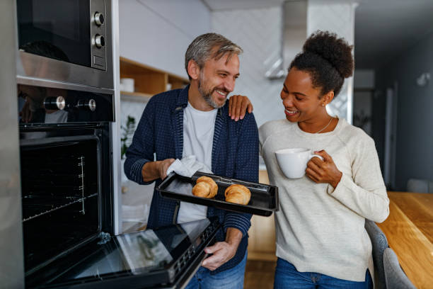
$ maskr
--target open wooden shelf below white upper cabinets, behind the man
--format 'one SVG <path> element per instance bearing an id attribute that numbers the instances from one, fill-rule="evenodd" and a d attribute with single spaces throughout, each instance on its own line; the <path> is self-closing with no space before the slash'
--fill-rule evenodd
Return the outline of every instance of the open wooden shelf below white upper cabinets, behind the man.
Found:
<path id="1" fill-rule="evenodd" d="M 151 96 L 170 89 L 182 89 L 190 81 L 178 75 L 120 57 L 120 78 L 134 79 L 134 91 L 120 91 L 123 100 L 148 101 Z"/>

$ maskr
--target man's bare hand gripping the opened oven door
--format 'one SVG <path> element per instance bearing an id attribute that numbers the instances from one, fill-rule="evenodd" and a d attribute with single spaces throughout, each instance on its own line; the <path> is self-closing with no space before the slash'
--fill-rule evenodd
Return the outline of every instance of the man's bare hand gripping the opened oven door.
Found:
<path id="1" fill-rule="evenodd" d="M 229 228 L 226 232 L 226 242 L 217 242 L 214 246 L 204 248 L 207 254 L 212 256 L 204 259 L 202 266 L 214 271 L 222 264 L 226 263 L 235 256 L 238 251 L 239 243 L 241 243 L 242 232 L 236 228 Z"/>

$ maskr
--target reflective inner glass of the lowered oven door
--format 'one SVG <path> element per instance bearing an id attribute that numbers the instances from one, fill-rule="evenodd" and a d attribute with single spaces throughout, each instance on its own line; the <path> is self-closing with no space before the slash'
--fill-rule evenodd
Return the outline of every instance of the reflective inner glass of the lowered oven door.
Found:
<path id="1" fill-rule="evenodd" d="M 79 256 L 77 253 L 79 263 L 75 266 L 68 263 L 69 270 L 53 283 L 92 282 L 120 276 L 149 276 L 141 279 L 142 287 L 170 283 L 185 270 L 184 267 L 178 270 L 179 263 L 187 266 L 185 253 L 190 252 L 192 246 L 196 253 L 204 249 L 205 241 L 201 236 L 210 225 L 211 222 L 204 219 L 114 236 L 103 245 L 88 248 L 86 252 L 91 254 Z M 193 259 L 194 253 L 188 256 Z"/>

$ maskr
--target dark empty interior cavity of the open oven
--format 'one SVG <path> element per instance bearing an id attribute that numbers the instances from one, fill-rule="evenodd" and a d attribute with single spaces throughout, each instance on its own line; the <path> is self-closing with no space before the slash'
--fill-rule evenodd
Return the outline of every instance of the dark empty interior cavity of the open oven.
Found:
<path id="1" fill-rule="evenodd" d="M 25 271 L 100 231 L 98 139 L 64 139 L 21 146 Z"/>

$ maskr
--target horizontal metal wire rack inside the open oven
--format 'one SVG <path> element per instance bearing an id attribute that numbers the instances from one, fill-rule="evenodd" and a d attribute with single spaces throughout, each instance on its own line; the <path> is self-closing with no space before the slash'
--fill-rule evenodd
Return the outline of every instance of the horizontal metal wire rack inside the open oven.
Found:
<path id="1" fill-rule="evenodd" d="M 23 203 L 23 208 L 25 208 L 25 211 L 28 210 L 32 210 L 35 212 L 34 215 L 33 214 L 29 214 L 30 217 L 24 217 L 23 216 L 23 222 L 26 222 L 28 220 L 32 220 L 35 217 L 39 217 L 41 215 L 45 215 L 48 214 L 50 212 L 54 212 L 55 210 L 59 210 L 61 208 L 65 208 L 69 205 L 72 205 L 74 203 L 79 203 L 79 202 L 83 202 L 83 208 L 84 208 L 84 200 L 86 200 L 87 198 L 92 198 L 94 196 L 98 196 L 98 193 L 93 193 L 90 196 L 86 196 L 86 197 L 82 197 L 82 198 L 77 198 L 77 197 L 66 197 L 66 198 L 57 198 L 57 201 L 59 201 L 59 203 L 57 204 L 53 204 L 55 202 L 53 202 L 53 198 L 50 198 L 50 203 Z M 63 199 L 65 202 L 61 202 L 60 199 Z M 33 206 L 33 208 L 31 208 Z M 37 208 L 39 207 L 39 208 Z M 81 212 L 84 213 L 84 210 L 82 210 Z"/>

